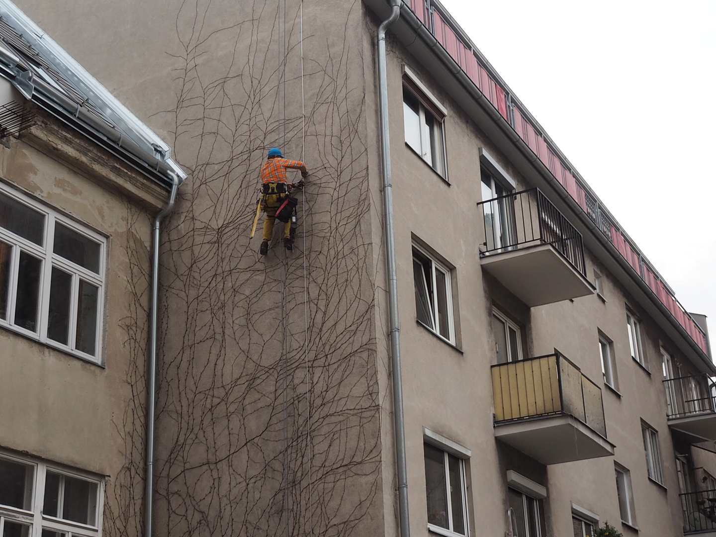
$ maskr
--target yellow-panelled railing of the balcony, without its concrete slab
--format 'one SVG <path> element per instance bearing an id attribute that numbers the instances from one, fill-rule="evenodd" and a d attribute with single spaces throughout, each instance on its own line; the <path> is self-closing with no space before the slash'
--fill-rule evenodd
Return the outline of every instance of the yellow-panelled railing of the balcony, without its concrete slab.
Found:
<path id="1" fill-rule="evenodd" d="M 601 390 L 559 352 L 492 367 L 495 423 L 571 415 L 606 438 Z"/>

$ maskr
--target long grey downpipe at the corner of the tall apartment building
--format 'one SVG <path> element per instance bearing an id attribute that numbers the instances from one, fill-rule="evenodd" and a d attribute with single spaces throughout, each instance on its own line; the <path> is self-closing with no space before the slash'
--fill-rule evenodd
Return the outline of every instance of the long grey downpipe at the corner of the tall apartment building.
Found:
<path id="1" fill-rule="evenodd" d="M 407 463 L 405 456 L 405 420 L 403 416 L 402 377 L 400 372 L 400 322 L 398 321 L 397 269 L 395 266 L 395 233 L 393 229 L 393 185 L 390 174 L 390 132 L 388 122 L 387 60 L 385 32 L 400 16 L 400 0 L 391 0 L 392 13 L 378 27 L 378 100 L 380 107 L 380 141 L 383 165 L 383 205 L 385 218 L 385 258 L 388 270 L 388 303 L 390 310 L 390 349 L 393 374 L 393 411 L 395 421 L 395 459 L 398 477 L 398 512 L 400 536 L 410 537 L 407 503 Z"/>

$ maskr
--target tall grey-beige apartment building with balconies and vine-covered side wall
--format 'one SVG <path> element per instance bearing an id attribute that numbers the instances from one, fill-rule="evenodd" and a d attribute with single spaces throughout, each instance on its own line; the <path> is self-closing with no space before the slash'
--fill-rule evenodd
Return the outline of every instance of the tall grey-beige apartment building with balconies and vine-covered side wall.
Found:
<path id="1" fill-rule="evenodd" d="M 19 4 L 190 170 L 164 241 L 155 534 L 397 535 L 390 2 Z M 412 535 L 716 535 L 705 318 L 439 2 L 402 3 L 387 51 Z M 311 176 L 297 251 L 262 259 L 273 145 Z M 105 531 L 136 535 L 122 501 Z"/>

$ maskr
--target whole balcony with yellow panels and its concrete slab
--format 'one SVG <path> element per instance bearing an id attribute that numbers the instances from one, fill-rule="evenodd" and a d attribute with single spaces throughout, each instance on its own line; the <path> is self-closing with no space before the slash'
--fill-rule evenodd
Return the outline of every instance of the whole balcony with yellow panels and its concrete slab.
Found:
<path id="1" fill-rule="evenodd" d="M 559 352 L 492 367 L 495 438 L 549 465 L 614 455 L 601 390 Z"/>

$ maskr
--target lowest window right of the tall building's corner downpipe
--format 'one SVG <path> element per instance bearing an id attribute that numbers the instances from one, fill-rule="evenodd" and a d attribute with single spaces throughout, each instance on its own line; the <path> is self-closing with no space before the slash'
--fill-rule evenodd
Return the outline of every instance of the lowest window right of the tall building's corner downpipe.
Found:
<path id="1" fill-rule="evenodd" d="M 468 535 L 465 461 L 428 443 L 423 448 L 428 528 L 445 535 Z"/>

